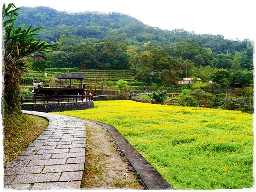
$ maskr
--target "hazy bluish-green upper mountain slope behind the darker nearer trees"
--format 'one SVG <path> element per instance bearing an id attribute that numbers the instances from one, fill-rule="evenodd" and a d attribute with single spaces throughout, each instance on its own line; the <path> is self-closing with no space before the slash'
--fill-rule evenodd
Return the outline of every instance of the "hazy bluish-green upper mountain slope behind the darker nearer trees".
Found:
<path id="1" fill-rule="evenodd" d="M 56 42 L 60 36 L 67 38 L 83 38 L 87 45 L 102 40 L 124 42 L 127 46 L 142 46 L 145 42 L 151 42 L 158 46 L 173 46 L 176 42 L 195 40 L 210 48 L 214 53 L 234 53 L 244 51 L 248 39 L 226 40 L 221 35 L 194 34 L 184 29 L 162 30 L 148 26 L 126 14 L 117 12 L 65 12 L 57 11 L 49 7 L 37 6 L 34 8 L 22 7 L 18 13 L 17 26 L 25 24 L 34 28 L 43 26 L 46 28 L 39 36 L 40 40 L 50 43 Z"/>

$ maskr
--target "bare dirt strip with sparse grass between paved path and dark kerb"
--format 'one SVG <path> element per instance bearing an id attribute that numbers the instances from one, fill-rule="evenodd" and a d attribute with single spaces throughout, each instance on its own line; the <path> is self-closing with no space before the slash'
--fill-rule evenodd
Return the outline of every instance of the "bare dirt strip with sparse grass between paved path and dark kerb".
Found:
<path id="1" fill-rule="evenodd" d="M 146 189 L 111 135 L 101 125 L 86 126 L 86 162 L 81 189 Z"/>

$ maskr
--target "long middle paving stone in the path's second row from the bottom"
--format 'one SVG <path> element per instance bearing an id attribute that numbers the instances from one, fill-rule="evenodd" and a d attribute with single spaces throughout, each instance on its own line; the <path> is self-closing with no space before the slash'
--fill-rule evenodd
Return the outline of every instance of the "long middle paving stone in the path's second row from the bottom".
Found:
<path id="1" fill-rule="evenodd" d="M 58 181 L 60 179 L 60 174 L 61 173 L 59 172 L 59 173 L 18 175 L 13 180 L 12 184 Z"/>

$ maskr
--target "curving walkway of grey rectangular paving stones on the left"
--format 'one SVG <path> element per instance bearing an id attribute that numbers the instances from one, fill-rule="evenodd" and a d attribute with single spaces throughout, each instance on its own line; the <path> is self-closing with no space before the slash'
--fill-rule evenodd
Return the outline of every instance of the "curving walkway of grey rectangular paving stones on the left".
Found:
<path id="1" fill-rule="evenodd" d="M 75 117 L 23 111 L 49 120 L 34 143 L 4 168 L 4 189 L 79 189 L 85 163 L 86 128 Z"/>

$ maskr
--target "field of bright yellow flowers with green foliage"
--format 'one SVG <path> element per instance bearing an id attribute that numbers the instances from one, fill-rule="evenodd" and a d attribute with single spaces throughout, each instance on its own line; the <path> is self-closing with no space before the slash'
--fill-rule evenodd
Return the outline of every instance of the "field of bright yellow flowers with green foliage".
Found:
<path id="1" fill-rule="evenodd" d="M 94 107 L 57 113 L 113 125 L 174 189 L 254 185 L 252 114 L 128 100 Z"/>

